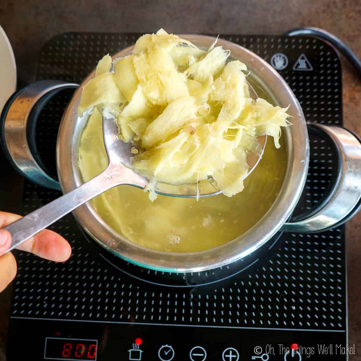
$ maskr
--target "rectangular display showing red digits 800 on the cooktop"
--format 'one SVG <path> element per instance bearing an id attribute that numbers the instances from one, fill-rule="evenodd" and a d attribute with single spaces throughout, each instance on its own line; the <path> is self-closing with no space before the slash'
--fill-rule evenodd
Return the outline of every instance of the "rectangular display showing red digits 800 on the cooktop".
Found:
<path id="1" fill-rule="evenodd" d="M 44 358 L 53 360 L 96 360 L 97 340 L 48 337 Z"/>

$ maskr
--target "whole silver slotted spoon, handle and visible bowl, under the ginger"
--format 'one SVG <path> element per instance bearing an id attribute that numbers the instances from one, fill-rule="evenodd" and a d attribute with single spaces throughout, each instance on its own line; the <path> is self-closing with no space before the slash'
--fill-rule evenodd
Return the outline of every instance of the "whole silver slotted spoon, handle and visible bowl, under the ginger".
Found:
<path id="1" fill-rule="evenodd" d="M 257 99 L 255 90 L 250 84 L 248 84 L 248 86 L 252 99 Z M 135 147 L 134 144 L 125 143 L 119 140 L 117 136 L 118 133 L 119 128 L 116 118 L 107 118 L 103 116 L 103 138 L 106 154 L 108 155 L 108 167 L 103 171 L 103 173 L 82 184 L 80 187 L 75 188 L 73 191 L 66 193 L 47 205 L 27 214 L 25 217 L 10 224 L 9 226 L 4 227 L 4 229 L 8 230 L 12 235 L 11 247 L 6 252 L 11 251 L 25 240 L 31 238 L 36 233 L 70 213 L 73 209 L 109 190 L 110 188 L 121 184 L 128 184 L 130 186 L 144 189 L 144 187 L 149 183 L 148 179 L 128 168 L 131 165 L 131 157 L 141 150 L 138 147 Z M 251 174 L 260 161 L 265 149 L 266 140 L 267 136 L 258 138 L 262 147 L 262 151 L 259 156 L 256 156 L 253 153 L 249 153 L 247 156 L 247 163 L 249 166 L 247 176 Z M 210 178 L 208 181 L 212 182 L 213 179 Z M 196 187 L 194 187 L 194 185 L 174 186 L 167 184 L 165 188 L 156 190 L 156 192 L 167 196 L 188 198 L 197 197 Z M 213 186 L 212 192 L 202 192 L 199 197 L 213 196 L 218 193 L 220 193 L 220 191 Z"/>

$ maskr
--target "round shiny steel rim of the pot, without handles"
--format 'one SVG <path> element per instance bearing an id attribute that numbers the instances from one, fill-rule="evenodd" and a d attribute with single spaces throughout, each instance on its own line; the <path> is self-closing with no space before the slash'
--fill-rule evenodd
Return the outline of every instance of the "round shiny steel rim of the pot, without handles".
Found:
<path id="1" fill-rule="evenodd" d="M 205 35 L 179 35 L 200 48 L 212 45 L 216 38 Z M 218 46 L 231 51 L 231 57 L 244 62 L 257 79 L 262 89 L 273 90 L 273 101 L 287 107 L 293 117 L 293 125 L 283 130 L 288 147 L 288 166 L 282 188 L 268 212 L 247 232 L 230 242 L 205 251 L 191 253 L 170 253 L 149 249 L 119 235 L 96 213 L 88 202 L 73 211 L 83 229 L 100 245 L 115 255 L 145 268 L 166 272 L 197 272 L 214 269 L 235 262 L 261 247 L 291 216 L 306 182 L 309 161 L 309 142 L 306 122 L 301 106 L 284 79 L 255 53 L 218 39 Z M 123 49 L 113 58 L 129 55 L 134 45 Z M 75 91 L 68 104 L 57 137 L 57 173 L 64 193 L 80 186 L 83 182 L 78 169 L 78 143 L 86 119 L 78 118 L 77 109 L 82 86 L 95 75 L 89 74 Z"/>

